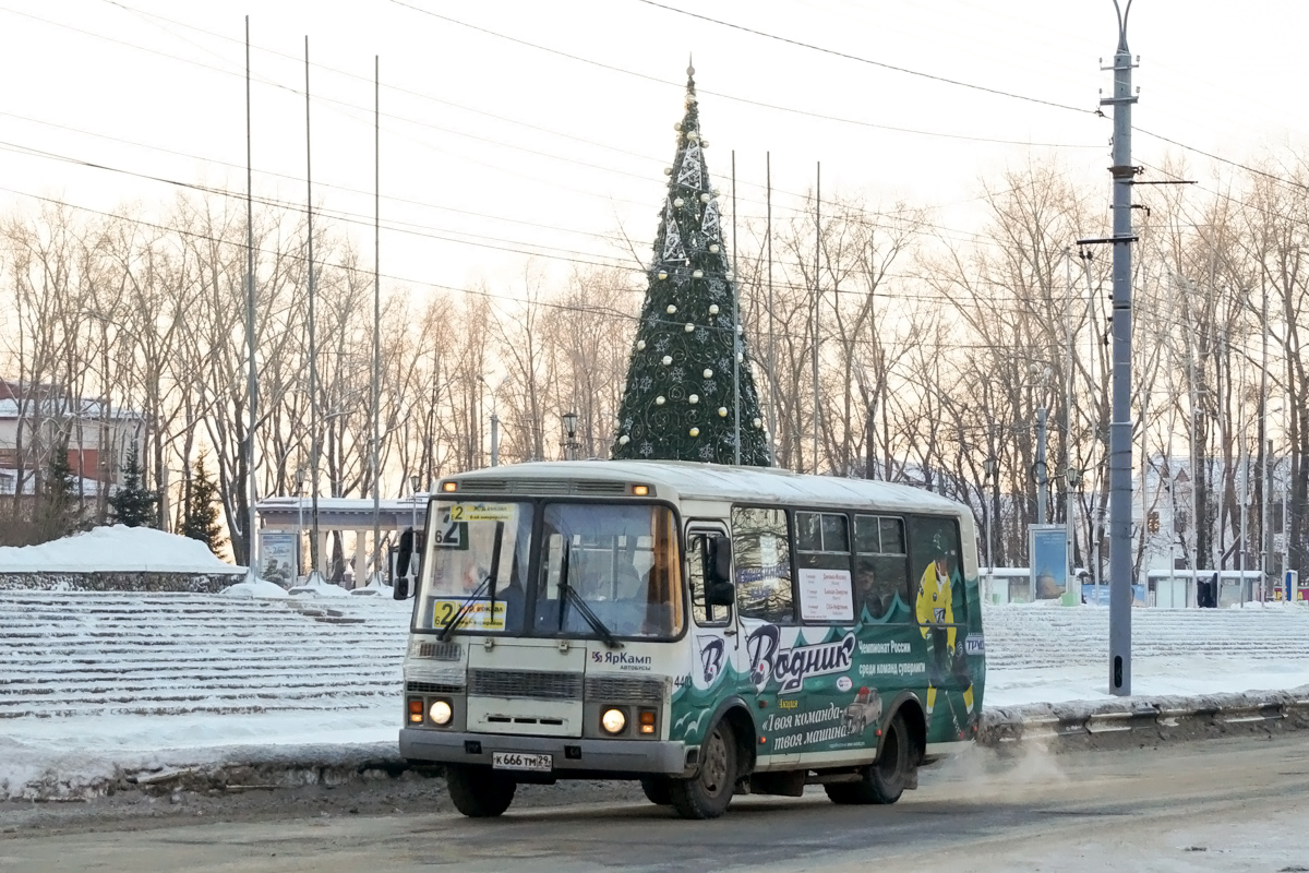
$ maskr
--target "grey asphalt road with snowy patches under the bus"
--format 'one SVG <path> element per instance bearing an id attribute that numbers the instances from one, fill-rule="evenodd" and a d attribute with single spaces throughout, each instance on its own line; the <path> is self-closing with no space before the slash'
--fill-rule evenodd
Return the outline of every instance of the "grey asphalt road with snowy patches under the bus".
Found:
<path id="1" fill-rule="evenodd" d="M 648 804 L 257 822 L 114 822 L 0 838 L 10 870 L 1309 870 L 1309 738 L 1233 739 L 924 772 L 889 808 L 745 797 L 713 822 Z"/>

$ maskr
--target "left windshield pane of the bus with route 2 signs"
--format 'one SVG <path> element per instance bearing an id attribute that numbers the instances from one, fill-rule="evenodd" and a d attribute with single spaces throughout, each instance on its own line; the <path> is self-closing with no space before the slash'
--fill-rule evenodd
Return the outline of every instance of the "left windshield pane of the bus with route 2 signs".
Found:
<path id="1" fill-rule="evenodd" d="M 531 504 L 436 500 L 429 518 L 414 630 L 440 631 L 458 615 L 456 631 L 521 632 Z"/>

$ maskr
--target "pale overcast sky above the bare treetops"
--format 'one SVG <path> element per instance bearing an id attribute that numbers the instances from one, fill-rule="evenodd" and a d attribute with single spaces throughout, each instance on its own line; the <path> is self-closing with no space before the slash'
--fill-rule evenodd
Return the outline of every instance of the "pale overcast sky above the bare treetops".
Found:
<path id="1" fill-rule="evenodd" d="M 243 195 L 249 14 L 255 192 L 302 208 L 308 35 L 315 202 L 357 221 L 369 266 L 381 56 L 384 284 L 511 291 L 524 253 L 556 276 L 572 260 L 631 264 L 619 229 L 648 258 L 690 52 L 709 170 L 726 199 L 736 151 L 742 217 L 763 213 L 766 152 L 778 220 L 821 161 L 825 194 L 935 207 L 958 236 L 977 229 L 980 178 L 1051 153 L 1103 186 L 1107 211 L 1111 126 L 1092 110 L 1110 88 L 1110 0 L 660 3 L 1086 111 L 641 0 L 0 0 L 0 203 L 153 211 L 173 198 L 134 173 Z M 1292 0 L 1138 0 L 1135 124 L 1242 162 L 1301 145 L 1305 33 L 1309 4 Z M 1140 131 L 1134 145 L 1138 164 L 1183 154 Z"/>

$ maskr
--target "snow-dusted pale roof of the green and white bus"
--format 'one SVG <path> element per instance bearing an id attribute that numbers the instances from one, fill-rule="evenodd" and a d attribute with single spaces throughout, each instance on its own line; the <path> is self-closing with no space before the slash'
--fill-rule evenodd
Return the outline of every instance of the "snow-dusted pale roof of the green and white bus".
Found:
<path id="1" fill-rule="evenodd" d="M 691 461 L 538 461 L 471 470 L 445 480 L 471 493 L 559 493 L 558 483 L 632 483 L 654 487 L 657 496 L 681 500 L 784 503 L 831 507 L 874 505 L 880 509 L 967 513 L 963 504 L 941 495 L 878 479 L 816 476 L 778 467 L 734 467 Z M 550 486 L 555 484 L 555 488 Z M 673 492 L 672 495 L 669 492 Z M 601 496 L 602 488 L 573 493 Z M 626 493 L 626 487 L 620 493 Z"/>

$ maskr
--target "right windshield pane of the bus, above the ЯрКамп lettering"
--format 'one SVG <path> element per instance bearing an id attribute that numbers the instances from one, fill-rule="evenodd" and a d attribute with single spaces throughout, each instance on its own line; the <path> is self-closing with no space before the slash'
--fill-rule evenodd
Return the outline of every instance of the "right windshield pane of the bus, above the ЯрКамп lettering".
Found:
<path id="1" fill-rule="evenodd" d="M 605 639 L 682 632 L 672 509 L 558 503 L 547 504 L 543 513 L 534 592 L 537 635 Z"/>

